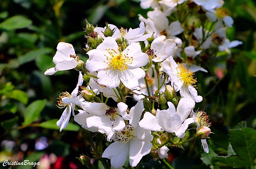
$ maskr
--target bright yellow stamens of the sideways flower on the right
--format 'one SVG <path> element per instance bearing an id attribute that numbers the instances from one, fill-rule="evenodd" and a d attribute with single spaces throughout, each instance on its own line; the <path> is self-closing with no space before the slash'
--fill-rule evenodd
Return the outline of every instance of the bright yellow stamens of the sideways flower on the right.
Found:
<path id="1" fill-rule="evenodd" d="M 176 69 L 177 69 L 178 75 L 180 76 L 180 79 L 183 80 L 183 82 L 186 85 L 191 85 L 193 87 L 196 87 L 195 83 L 197 82 L 197 80 L 194 79 L 193 77 L 194 73 L 191 70 L 184 68 L 184 66 L 179 63 Z"/>

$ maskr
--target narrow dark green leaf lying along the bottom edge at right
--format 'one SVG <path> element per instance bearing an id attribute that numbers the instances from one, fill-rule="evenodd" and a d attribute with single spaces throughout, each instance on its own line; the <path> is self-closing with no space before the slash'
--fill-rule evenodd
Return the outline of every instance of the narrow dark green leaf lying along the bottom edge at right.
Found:
<path id="1" fill-rule="evenodd" d="M 249 164 L 238 156 L 218 156 L 212 158 L 212 163 L 218 166 L 248 167 Z"/>

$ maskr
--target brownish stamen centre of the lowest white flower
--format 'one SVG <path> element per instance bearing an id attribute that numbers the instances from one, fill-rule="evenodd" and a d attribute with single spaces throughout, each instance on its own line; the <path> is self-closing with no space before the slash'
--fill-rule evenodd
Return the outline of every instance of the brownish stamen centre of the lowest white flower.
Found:
<path id="1" fill-rule="evenodd" d="M 126 143 L 131 140 L 132 133 L 134 131 L 134 127 L 131 124 L 126 124 L 125 128 L 121 132 L 115 133 L 116 141 Z"/>

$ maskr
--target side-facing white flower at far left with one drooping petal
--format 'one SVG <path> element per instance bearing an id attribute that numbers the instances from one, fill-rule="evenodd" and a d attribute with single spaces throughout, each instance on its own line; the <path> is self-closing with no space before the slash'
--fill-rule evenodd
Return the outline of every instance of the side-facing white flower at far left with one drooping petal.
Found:
<path id="1" fill-rule="evenodd" d="M 79 57 L 76 55 L 73 45 L 65 42 L 59 42 L 57 45 L 57 52 L 52 59 L 55 67 L 49 68 L 44 72 L 44 74 L 53 75 L 57 71 L 76 68 L 78 61 Z"/>

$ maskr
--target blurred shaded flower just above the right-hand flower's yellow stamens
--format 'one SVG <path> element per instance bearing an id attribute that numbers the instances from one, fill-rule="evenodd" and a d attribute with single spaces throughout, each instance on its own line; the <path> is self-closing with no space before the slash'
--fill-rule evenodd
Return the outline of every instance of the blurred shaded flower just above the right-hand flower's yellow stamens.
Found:
<path id="1" fill-rule="evenodd" d="M 186 62 L 184 63 L 184 67 L 188 68 L 192 72 L 197 72 L 197 71 L 203 71 L 203 72 L 208 72 L 201 66 L 195 65 L 195 57 L 201 54 L 201 51 L 195 51 L 194 46 L 188 46 L 184 48 L 184 52 L 187 56 Z"/>

